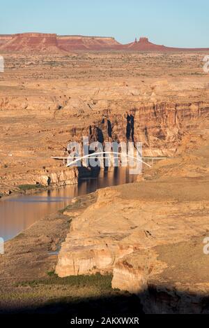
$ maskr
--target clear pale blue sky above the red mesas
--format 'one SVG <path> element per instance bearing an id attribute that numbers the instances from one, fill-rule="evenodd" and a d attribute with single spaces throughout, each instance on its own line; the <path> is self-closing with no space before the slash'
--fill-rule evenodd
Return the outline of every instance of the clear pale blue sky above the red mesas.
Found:
<path id="1" fill-rule="evenodd" d="M 38 31 L 148 36 L 158 44 L 209 47 L 208 0 L 0 0 L 0 34 Z"/>

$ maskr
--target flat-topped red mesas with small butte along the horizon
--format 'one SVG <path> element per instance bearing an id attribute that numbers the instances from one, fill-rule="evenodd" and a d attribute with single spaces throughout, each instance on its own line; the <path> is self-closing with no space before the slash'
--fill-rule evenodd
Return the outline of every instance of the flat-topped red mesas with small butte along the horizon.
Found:
<path id="1" fill-rule="evenodd" d="M 76 50 L 123 50 L 146 52 L 199 51 L 209 48 L 172 48 L 151 43 L 148 38 L 137 38 L 123 45 L 115 38 L 105 36 L 56 36 L 56 34 L 23 33 L 0 35 L 0 50 L 8 52 L 71 52 Z"/>

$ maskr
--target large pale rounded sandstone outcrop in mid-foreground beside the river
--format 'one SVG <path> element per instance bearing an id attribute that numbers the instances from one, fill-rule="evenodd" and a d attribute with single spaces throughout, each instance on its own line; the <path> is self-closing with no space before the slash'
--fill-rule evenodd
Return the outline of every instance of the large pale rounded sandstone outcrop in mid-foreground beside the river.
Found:
<path id="1" fill-rule="evenodd" d="M 181 180 L 176 187 L 185 185 L 185 180 Z M 194 185 L 197 183 L 189 183 L 188 190 Z M 160 183 L 158 180 L 157 183 L 98 191 L 96 203 L 72 220 L 56 267 L 59 276 L 88 274 L 94 269 L 112 271 L 114 268 L 117 274 L 120 260 L 124 259 L 125 263 L 127 255 L 141 254 L 142 250 L 157 245 L 171 245 L 204 234 L 208 229 L 209 208 L 206 190 L 201 190 L 203 203 L 198 197 L 199 200 L 193 201 L 188 208 L 186 200 L 180 201 L 183 192 L 172 188 L 169 181 Z M 132 274 L 134 271 L 130 271 Z"/>

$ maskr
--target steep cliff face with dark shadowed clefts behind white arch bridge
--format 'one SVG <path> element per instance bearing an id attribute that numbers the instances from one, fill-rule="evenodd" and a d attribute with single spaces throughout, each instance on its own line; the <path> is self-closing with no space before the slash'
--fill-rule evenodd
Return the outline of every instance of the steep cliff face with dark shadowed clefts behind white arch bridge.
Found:
<path id="1" fill-rule="evenodd" d="M 102 109 L 102 108 L 101 108 Z M 196 129 L 199 120 L 209 118 L 209 104 L 204 102 L 175 104 L 159 102 L 137 105 L 130 110 L 134 115 L 134 134 L 130 141 L 143 143 L 143 155 L 172 157 L 176 154 L 183 136 Z M 118 110 L 105 110 L 100 120 L 91 127 L 73 129 L 72 138 L 79 141 L 89 135 L 94 141 L 127 141 L 127 114 Z M 91 132 L 89 132 L 91 131 Z M 99 131 L 99 133 L 98 133 Z M 81 139 L 80 139 L 81 140 Z"/>

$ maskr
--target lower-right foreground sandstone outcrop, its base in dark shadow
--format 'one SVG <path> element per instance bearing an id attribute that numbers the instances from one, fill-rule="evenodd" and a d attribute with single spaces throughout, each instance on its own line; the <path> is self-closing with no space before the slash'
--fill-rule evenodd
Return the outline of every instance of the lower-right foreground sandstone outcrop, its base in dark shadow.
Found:
<path id="1" fill-rule="evenodd" d="M 208 261 L 203 236 L 159 245 L 118 262 L 112 287 L 137 294 L 145 313 L 208 313 Z"/>

